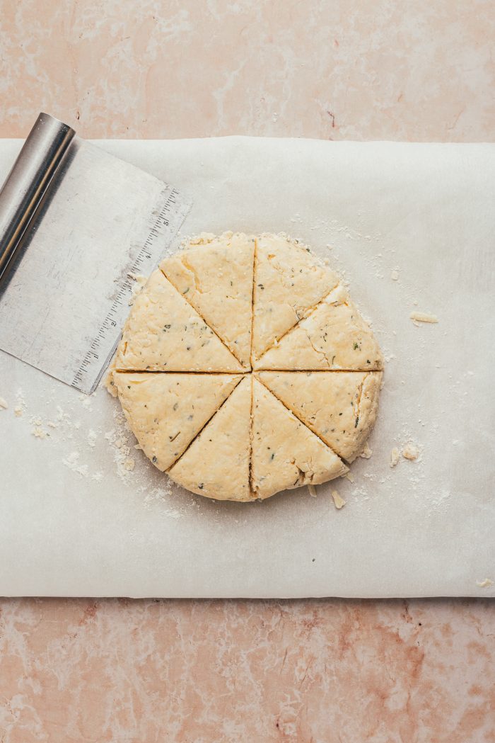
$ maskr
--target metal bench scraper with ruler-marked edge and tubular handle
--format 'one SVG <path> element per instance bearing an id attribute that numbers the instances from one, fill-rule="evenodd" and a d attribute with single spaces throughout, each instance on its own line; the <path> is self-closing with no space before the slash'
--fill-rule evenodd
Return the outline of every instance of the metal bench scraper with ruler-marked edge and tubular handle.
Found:
<path id="1" fill-rule="evenodd" d="M 90 394 L 191 203 L 39 114 L 0 189 L 0 348 Z"/>

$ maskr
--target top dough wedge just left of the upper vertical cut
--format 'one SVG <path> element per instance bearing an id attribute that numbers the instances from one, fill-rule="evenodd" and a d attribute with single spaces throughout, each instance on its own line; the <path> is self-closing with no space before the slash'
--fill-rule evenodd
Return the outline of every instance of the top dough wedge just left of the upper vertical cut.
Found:
<path id="1" fill-rule="evenodd" d="M 255 239 L 225 233 L 198 240 L 165 259 L 160 268 L 249 369 Z"/>

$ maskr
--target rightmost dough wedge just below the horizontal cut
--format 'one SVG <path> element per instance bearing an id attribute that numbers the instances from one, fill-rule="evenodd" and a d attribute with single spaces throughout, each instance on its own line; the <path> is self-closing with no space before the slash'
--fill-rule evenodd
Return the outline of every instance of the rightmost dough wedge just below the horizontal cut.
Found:
<path id="1" fill-rule="evenodd" d="M 339 457 L 353 461 L 376 420 L 381 371 L 260 371 L 260 380 Z"/>

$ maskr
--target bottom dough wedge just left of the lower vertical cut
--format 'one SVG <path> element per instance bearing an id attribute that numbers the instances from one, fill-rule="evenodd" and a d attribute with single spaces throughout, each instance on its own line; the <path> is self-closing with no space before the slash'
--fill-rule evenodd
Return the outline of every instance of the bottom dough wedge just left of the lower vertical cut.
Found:
<path id="1" fill-rule="evenodd" d="M 251 383 L 243 378 L 168 474 L 220 501 L 249 501 Z"/>

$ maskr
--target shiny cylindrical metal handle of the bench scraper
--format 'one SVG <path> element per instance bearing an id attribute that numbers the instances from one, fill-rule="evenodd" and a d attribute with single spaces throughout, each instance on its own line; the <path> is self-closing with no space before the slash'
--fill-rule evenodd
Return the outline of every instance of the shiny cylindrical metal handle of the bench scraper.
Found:
<path id="1" fill-rule="evenodd" d="M 76 132 L 39 114 L 0 189 L 0 282 Z"/>

